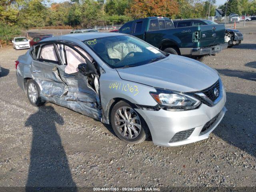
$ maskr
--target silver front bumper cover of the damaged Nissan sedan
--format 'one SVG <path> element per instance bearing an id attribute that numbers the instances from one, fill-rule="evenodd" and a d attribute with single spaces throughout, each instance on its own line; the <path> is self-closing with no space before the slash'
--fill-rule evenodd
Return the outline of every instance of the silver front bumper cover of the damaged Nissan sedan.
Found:
<path id="1" fill-rule="evenodd" d="M 138 109 L 140 115 L 146 121 L 154 144 L 159 146 L 179 146 L 204 140 L 218 126 L 226 113 L 226 93 L 223 90 L 221 100 L 210 107 L 201 104 L 198 109 L 187 111 L 158 111 Z M 210 120 L 214 119 L 214 122 Z M 204 131 L 205 125 L 211 122 Z M 184 140 L 173 142 L 172 138 L 179 132 L 191 130 Z"/>

